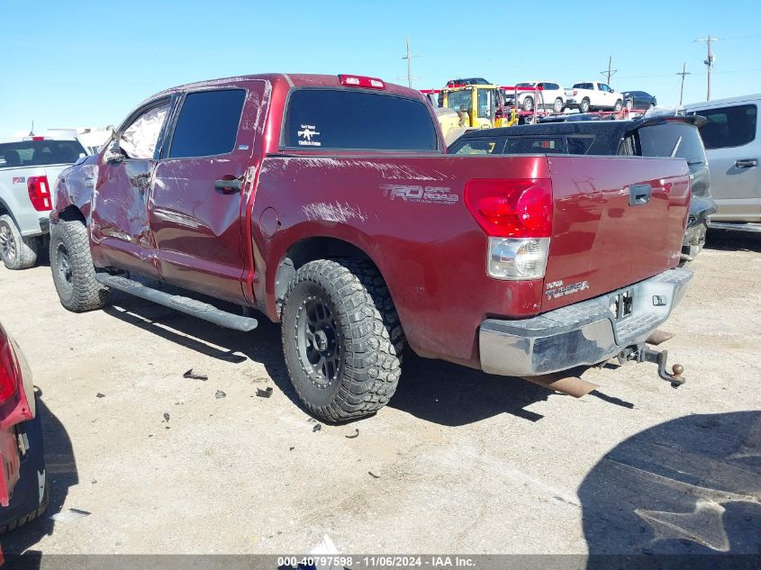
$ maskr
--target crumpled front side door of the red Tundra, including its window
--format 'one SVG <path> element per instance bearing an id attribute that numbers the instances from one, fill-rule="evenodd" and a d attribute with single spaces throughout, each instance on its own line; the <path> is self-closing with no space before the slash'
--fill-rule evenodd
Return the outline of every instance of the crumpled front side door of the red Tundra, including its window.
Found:
<path id="1" fill-rule="evenodd" d="M 150 234 L 148 200 L 159 135 L 169 98 L 138 109 L 98 156 L 94 181 L 92 251 L 97 267 L 119 267 L 159 277 Z"/>

